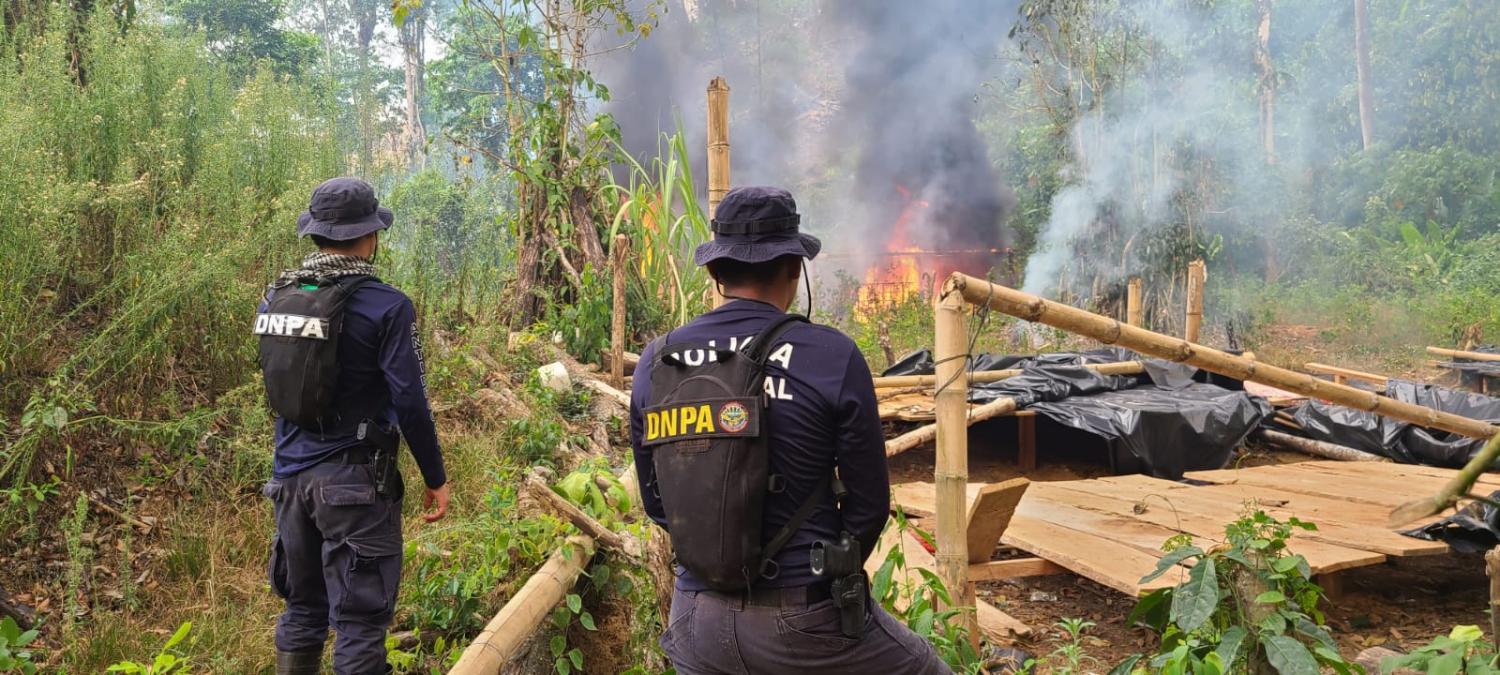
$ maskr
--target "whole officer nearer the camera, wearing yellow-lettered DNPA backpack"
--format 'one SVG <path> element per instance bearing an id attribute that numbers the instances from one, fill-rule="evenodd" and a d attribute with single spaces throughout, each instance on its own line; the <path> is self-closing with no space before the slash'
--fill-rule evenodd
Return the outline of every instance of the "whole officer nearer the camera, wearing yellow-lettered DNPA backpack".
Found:
<path id="1" fill-rule="evenodd" d="M 630 432 L 646 513 L 681 570 L 676 672 L 946 674 L 870 598 L 890 508 L 874 384 L 854 340 L 788 315 L 801 262 L 786 190 L 730 190 L 699 246 L 729 302 L 640 354 Z"/>

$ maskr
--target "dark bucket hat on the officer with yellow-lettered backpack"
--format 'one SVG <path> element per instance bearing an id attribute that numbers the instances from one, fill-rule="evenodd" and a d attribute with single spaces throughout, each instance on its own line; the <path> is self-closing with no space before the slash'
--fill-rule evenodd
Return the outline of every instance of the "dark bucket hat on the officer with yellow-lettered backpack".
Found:
<path id="1" fill-rule="evenodd" d="M 706 266 L 720 258 L 766 262 L 783 255 L 818 256 L 824 243 L 796 230 L 792 194 L 780 188 L 735 188 L 714 212 L 714 238 L 698 246 L 693 262 Z"/>

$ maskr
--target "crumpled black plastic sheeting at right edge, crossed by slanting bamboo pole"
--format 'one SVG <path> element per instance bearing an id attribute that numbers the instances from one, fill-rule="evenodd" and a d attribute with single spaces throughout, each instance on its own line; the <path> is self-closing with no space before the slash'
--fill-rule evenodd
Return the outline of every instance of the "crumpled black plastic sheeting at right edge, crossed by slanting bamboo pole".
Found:
<path id="1" fill-rule="evenodd" d="M 1473 392 L 1390 380 L 1386 384 L 1386 396 L 1455 416 L 1500 423 L 1500 399 Z M 1300 424 L 1298 430 L 1300 435 L 1404 464 L 1458 468 L 1485 444 L 1480 438 L 1428 429 L 1322 400 L 1306 400 L 1298 405 L 1293 410 L 1293 417 Z"/>

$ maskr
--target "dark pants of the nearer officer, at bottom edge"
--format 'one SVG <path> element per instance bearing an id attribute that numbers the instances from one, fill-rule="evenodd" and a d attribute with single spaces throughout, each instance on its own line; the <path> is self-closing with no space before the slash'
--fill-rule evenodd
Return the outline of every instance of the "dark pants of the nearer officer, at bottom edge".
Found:
<path id="1" fill-rule="evenodd" d="M 712 591 L 676 591 L 662 650 L 681 675 L 951 675 L 933 646 L 870 603 L 861 638 L 838 628 L 832 600 L 780 608 Z"/>

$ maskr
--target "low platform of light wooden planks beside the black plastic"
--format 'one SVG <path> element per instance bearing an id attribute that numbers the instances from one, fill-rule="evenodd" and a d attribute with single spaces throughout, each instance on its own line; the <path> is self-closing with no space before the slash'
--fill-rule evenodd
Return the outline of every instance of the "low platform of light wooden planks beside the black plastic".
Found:
<path id="1" fill-rule="evenodd" d="M 1128 596 L 1172 586 L 1186 568 L 1150 584 L 1161 544 L 1190 534 L 1198 546 L 1224 540 L 1224 525 L 1251 508 L 1278 519 L 1296 516 L 1318 526 L 1298 532 L 1292 550 L 1306 556 L 1314 574 L 1374 566 L 1392 556 L 1440 555 L 1440 542 L 1406 537 L 1386 526 L 1396 504 L 1432 494 L 1455 471 L 1384 462 L 1302 462 L 1245 470 L 1190 472 L 1215 484 L 1191 486 L 1148 476 L 1032 483 L 1000 542 Z M 970 498 L 982 488 L 970 486 Z M 1500 476 L 1480 478 L 1500 489 Z M 894 489 L 915 516 L 932 513 L 930 483 Z M 1412 525 L 1412 526 L 1416 526 Z"/>

